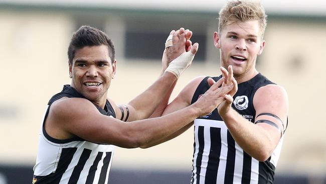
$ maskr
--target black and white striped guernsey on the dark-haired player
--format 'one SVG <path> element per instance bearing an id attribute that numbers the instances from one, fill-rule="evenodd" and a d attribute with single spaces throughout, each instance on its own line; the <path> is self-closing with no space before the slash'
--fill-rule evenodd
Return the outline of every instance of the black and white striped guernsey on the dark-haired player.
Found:
<path id="1" fill-rule="evenodd" d="M 108 183 L 114 145 L 88 142 L 80 137 L 59 140 L 45 131 L 44 122 L 50 106 L 62 97 L 85 98 L 70 85 L 64 85 L 61 93 L 49 101 L 40 130 L 33 184 Z M 96 105 L 95 107 L 101 114 L 115 118 L 114 110 L 108 101 L 104 109 Z"/>

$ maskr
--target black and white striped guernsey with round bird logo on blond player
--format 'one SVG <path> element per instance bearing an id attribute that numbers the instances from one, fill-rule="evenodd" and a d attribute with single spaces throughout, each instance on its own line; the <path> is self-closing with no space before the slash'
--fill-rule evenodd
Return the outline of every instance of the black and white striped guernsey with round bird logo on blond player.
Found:
<path id="1" fill-rule="evenodd" d="M 207 78 L 197 87 L 192 103 L 209 89 Z M 220 79 L 213 77 L 215 81 Z M 253 97 L 261 86 L 273 84 L 262 74 L 238 84 L 232 108 L 250 122 L 256 115 Z M 194 154 L 191 183 L 273 183 L 283 137 L 268 160 L 260 162 L 235 142 L 217 109 L 194 121 Z"/>

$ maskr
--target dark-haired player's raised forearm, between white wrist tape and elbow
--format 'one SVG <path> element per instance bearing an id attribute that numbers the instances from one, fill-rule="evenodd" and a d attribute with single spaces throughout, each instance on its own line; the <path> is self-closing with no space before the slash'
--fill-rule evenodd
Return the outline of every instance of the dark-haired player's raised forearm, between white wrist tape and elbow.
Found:
<path id="1" fill-rule="evenodd" d="M 168 104 L 176 80 L 177 78 L 174 74 L 164 72 L 143 93 L 130 101 L 128 105 L 132 106 L 135 110 L 134 114 L 136 116 L 134 120 L 148 118 L 156 109 L 157 112 L 155 114 L 163 112 Z M 158 106 L 159 108 L 157 108 Z"/>

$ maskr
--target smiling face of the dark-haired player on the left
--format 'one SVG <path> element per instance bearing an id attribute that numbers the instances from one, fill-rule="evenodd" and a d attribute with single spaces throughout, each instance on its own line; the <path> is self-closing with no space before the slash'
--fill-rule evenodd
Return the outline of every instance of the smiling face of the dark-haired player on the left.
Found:
<path id="1" fill-rule="evenodd" d="M 111 62 L 108 52 L 106 45 L 86 46 L 76 51 L 69 64 L 71 86 L 100 107 L 105 105 L 116 69 L 116 61 Z"/>

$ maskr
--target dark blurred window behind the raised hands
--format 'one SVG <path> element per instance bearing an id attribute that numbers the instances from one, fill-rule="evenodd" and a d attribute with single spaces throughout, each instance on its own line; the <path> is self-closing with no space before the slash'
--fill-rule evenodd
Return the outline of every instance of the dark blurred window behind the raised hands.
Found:
<path id="1" fill-rule="evenodd" d="M 129 20 L 130 21 L 130 20 Z M 175 26 L 177 25 L 177 26 Z M 147 22 L 145 20 L 135 20 L 127 23 L 125 32 L 124 53 L 127 59 L 151 59 L 160 61 L 164 44 L 168 34 L 172 29 L 179 29 L 178 23 L 170 22 Z M 196 54 L 196 60 L 206 60 L 206 27 L 192 22 L 184 26 L 194 32 L 192 42 L 200 43 L 200 48 Z M 194 28 L 193 28 L 194 27 Z M 196 29 L 197 28 L 197 29 Z M 203 29 L 204 28 L 204 29 Z"/>

